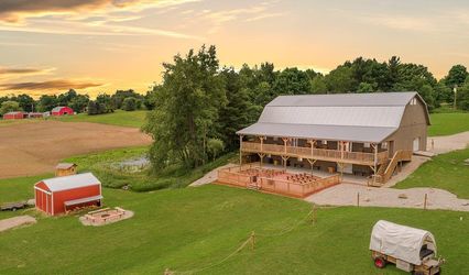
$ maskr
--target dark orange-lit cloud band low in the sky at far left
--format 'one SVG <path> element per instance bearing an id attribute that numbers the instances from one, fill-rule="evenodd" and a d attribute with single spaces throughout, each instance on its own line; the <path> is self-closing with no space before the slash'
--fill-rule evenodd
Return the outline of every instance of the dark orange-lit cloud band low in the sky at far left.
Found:
<path id="1" fill-rule="evenodd" d="M 91 81 L 77 81 L 72 79 L 55 79 L 39 82 L 14 82 L 14 84 L 0 84 L 1 90 L 67 90 L 67 89 L 86 89 L 99 87 L 103 84 Z"/>

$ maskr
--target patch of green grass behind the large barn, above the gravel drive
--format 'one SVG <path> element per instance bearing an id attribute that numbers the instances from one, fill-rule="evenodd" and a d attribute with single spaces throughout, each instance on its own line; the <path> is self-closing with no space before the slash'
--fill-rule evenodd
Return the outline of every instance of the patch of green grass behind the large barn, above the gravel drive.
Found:
<path id="1" fill-rule="evenodd" d="M 469 112 L 432 113 L 428 135 L 450 135 L 469 131 Z"/>

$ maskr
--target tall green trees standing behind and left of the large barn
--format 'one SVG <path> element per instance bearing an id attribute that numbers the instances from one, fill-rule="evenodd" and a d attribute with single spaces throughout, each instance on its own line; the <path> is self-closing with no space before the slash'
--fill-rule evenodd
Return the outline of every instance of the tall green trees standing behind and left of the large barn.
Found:
<path id="1" fill-rule="evenodd" d="M 236 131 L 253 123 L 263 107 L 281 95 L 417 91 L 432 111 L 455 100 L 469 110 L 469 74 L 455 65 L 436 79 L 424 65 L 358 57 L 329 74 L 296 67 L 275 69 L 272 63 L 239 70 L 221 67 L 215 46 L 177 54 L 163 64 L 162 82 L 146 97 L 153 111 L 143 130 L 153 136 L 153 166 L 162 168 L 182 162 L 196 167 L 220 151 L 239 146 Z"/>

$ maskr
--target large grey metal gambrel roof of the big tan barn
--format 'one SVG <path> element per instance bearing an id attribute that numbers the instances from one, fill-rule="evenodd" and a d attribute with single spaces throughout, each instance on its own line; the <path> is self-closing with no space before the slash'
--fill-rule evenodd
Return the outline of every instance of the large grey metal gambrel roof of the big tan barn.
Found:
<path id="1" fill-rule="evenodd" d="M 417 92 L 280 96 L 238 134 L 382 142 L 401 124 Z"/>

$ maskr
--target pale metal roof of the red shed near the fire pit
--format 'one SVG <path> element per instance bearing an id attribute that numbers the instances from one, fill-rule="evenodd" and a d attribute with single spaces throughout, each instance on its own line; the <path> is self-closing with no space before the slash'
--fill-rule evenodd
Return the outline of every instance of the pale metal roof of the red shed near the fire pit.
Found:
<path id="1" fill-rule="evenodd" d="M 84 173 L 72 176 L 54 177 L 41 180 L 51 191 L 62 191 L 85 186 L 101 185 L 92 173 Z M 40 183 L 41 183 L 40 182 Z"/>

